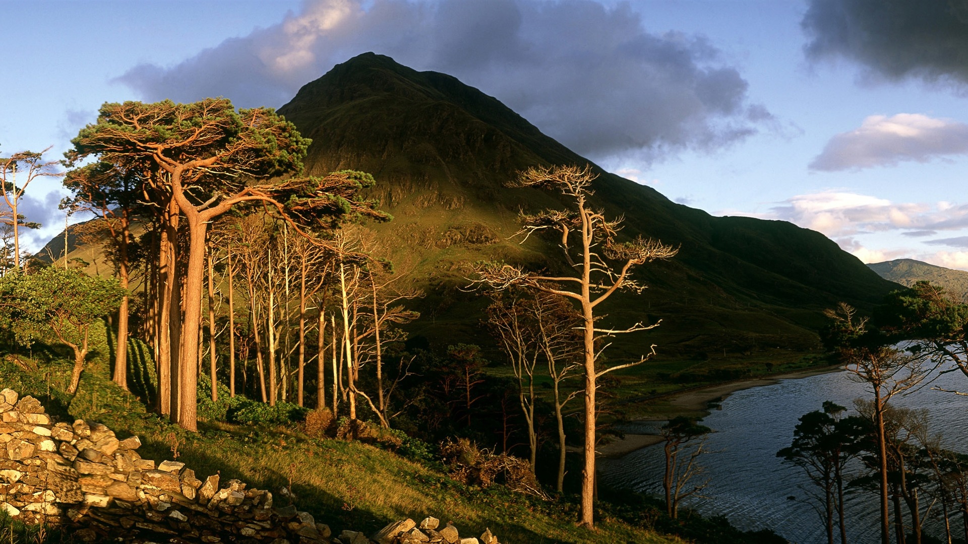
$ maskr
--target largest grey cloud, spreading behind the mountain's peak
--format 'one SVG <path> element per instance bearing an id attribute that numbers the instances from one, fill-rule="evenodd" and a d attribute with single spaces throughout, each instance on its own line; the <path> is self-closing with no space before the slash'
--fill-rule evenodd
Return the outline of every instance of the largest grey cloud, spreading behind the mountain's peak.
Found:
<path id="1" fill-rule="evenodd" d="M 773 122 L 706 38 L 652 34 L 627 5 L 594 2 L 308 2 L 176 66 L 141 65 L 118 79 L 150 101 L 282 106 L 370 50 L 458 76 L 596 158 L 711 151 Z"/>

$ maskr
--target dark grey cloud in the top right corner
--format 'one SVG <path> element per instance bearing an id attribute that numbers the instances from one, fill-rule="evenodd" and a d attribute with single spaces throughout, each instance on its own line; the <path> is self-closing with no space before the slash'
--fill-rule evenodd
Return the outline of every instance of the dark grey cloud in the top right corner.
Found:
<path id="1" fill-rule="evenodd" d="M 801 24 L 810 59 L 845 58 L 888 80 L 968 82 L 965 0 L 811 0 Z"/>

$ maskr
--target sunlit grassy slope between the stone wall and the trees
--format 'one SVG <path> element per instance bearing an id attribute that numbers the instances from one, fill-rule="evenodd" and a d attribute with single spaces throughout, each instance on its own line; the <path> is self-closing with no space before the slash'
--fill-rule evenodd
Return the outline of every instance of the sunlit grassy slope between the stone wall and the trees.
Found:
<path id="1" fill-rule="evenodd" d="M 107 379 L 104 365 L 95 364 L 82 375 L 73 398 L 60 388 L 69 374 L 67 362 L 45 364 L 38 373 L 0 362 L 0 383 L 37 397 L 49 413 L 66 421 L 100 421 L 120 438 L 137 435 L 143 443 L 138 450 L 143 457 L 160 462 L 177 452 L 178 461 L 202 478 L 220 473 L 223 479 L 238 478 L 273 492 L 291 486 L 298 507 L 335 533 L 342 529 L 369 533 L 391 521 L 432 515 L 453 521 L 464 536 L 490 528 L 505 544 L 684 542 L 608 515 L 593 532 L 579 529 L 574 524 L 577 505 L 569 499 L 543 501 L 511 493 L 500 485 L 488 489 L 467 486 L 439 468 L 408 461 L 373 445 L 310 438 L 295 427 L 205 423 L 193 435 L 147 412 L 132 394 Z M 280 496 L 277 500 L 286 499 Z M 36 530 L 27 533 L 30 538 L 36 536 Z M 10 527 L 0 524 L 0 534 L 5 536 L 4 542 L 7 537 L 15 541 Z M 48 542 L 67 536 L 51 534 L 57 538 L 51 536 L 54 539 Z"/>

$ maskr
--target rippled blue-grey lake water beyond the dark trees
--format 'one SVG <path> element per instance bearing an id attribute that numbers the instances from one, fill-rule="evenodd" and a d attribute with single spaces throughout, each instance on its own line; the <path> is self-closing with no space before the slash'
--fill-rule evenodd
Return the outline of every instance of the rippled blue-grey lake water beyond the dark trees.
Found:
<path id="1" fill-rule="evenodd" d="M 930 386 L 968 390 L 968 378 L 961 373 L 938 376 Z M 968 452 L 968 397 L 930 389 L 901 397 L 895 406 L 930 408 L 930 429 L 941 433 L 946 446 Z M 704 515 L 723 514 L 741 529 L 773 529 L 796 544 L 825 543 L 826 531 L 820 517 L 804 503 L 804 490 L 814 488 L 802 470 L 784 464 L 776 452 L 790 445 L 800 417 L 822 408 L 824 401 L 853 409 L 857 398 L 872 398 L 866 384 L 845 372 L 811 378 L 784 379 L 779 383 L 754 387 L 730 395 L 721 409 L 712 410 L 703 424 L 714 432 L 708 448 L 719 453 L 706 455 L 702 476 L 710 478 L 704 494 L 709 499 L 686 502 Z M 625 429 L 648 433 L 655 423 Z M 612 488 L 661 495 L 664 457 L 662 446 L 650 446 L 620 459 L 599 462 L 601 482 Z M 796 499 L 788 499 L 794 497 Z M 851 494 L 845 500 L 847 532 L 851 542 L 876 544 L 880 540 L 877 498 L 867 493 Z M 935 507 L 940 510 L 940 505 Z M 905 512 L 906 516 L 906 512 Z M 931 532 L 943 535 L 935 525 Z M 953 519 L 955 530 L 960 520 Z M 836 530 L 836 529 L 835 529 Z M 958 532 L 954 536 L 957 537 Z"/>

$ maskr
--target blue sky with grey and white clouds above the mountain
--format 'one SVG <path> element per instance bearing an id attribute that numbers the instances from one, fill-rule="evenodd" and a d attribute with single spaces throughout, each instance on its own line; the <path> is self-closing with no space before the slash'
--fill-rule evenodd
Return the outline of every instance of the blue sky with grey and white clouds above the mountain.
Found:
<path id="1" fill-rule="evenodd" d="M 0 0 L 0 156 L 60 159 L 106 102 L 287 103 L 357 54 L 457 76 L 590 160 L 864 262 L 968 270 L 964 0 Z M 29 188 L 36 251 L 63 229 Z M 78 218 L 72 218 L 76 221 Z"/>

